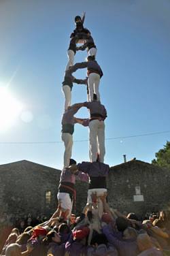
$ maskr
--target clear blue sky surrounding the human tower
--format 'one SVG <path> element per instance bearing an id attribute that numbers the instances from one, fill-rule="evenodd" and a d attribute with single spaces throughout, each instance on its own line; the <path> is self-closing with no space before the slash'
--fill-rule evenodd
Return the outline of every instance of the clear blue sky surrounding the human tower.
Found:
<path id="1" fill-rule="evenodd" d="M 170 131 L 170 1 L 1 0 L 0 88 L 7 86 L 22 110 L 5 129 L 0 120 L 0 164 L 27 159 L 63 167 L 61 83 L 74 17 L 82 12 L 104 74 L 99 91 L 108 115 L 105 138 L 111 138 L 105 140 L 105 163 L 122 163 L 122 155 L 150 163 L 170 140 L 170 132 L 122 138 Z M 75 63 L 86 54 L 78 52 Z M 86 69 L 75 72 L 76 78 L 85 76 Z M 75 84 L 71 103 L 84 101 L 86 87 Z M 76 116 L 88 117 L 86 108 Z M 75 125 L 73 140 L 72 157 L 88 161 L 88 129 Z"/>

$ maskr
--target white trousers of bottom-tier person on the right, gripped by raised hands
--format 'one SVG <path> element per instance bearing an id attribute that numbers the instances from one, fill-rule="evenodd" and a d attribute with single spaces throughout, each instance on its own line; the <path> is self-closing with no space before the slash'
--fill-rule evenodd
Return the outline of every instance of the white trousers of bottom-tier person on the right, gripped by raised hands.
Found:
<path id="1" fill-rule="evenodd" d="M 95 193 L 97 195 L 97 208 L 98 208 L 100 219 L 103 214 L 103 202 L 101 201 L 100 196 L 104 195 L 105 192 L 107 192 L 107 189 L 88 189 L 87 203 L 92 204 L 91 196 L 92 196 L 92 193 Z"/>

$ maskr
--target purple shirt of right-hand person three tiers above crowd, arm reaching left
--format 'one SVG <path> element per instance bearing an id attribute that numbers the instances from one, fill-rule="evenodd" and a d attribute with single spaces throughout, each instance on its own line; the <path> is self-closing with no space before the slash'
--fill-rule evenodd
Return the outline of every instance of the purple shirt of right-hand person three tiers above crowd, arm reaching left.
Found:
<path id="1" fill-rule="evenodd" d="M 97 61 L 85 61 L 85 62 L 81 62 L 81 63 L 76 63 L 75 65 L 73 65 L 73 67 L 71 67 L 69 69 L 69 71 L 71 71 L 71 73 L 73 73 L 76 70 L 84 69 L 85 67 L 87 67 L 88 71 L 97 71 L 97 72 L 99 72 L 100 77 L 103 76 L 103 72 L 101 70 L 101 67 L 97 63 Z"/>

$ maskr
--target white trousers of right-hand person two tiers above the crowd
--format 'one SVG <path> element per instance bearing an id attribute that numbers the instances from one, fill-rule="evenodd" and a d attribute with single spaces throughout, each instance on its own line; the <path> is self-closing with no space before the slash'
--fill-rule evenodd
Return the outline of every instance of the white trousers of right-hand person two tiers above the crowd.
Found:
<path id="1" fill-rule="evenodd" d="M 88 127 L 90 162 L 97 161 L 98 152 L 99 160 L 103 163 L 105 156 L 105 123 L 95 119 L 90 121 Z"/>

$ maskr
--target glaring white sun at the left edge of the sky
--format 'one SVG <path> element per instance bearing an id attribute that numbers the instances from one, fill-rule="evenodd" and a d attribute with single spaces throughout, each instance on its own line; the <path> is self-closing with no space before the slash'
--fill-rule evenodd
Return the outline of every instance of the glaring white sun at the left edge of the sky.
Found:
<path id="1" fill-rule="evenodd" d="M 14 125 L 22 110 L 21 104 L 12 97 L 6 87 L 0 87 L 0 131 Z"/>

